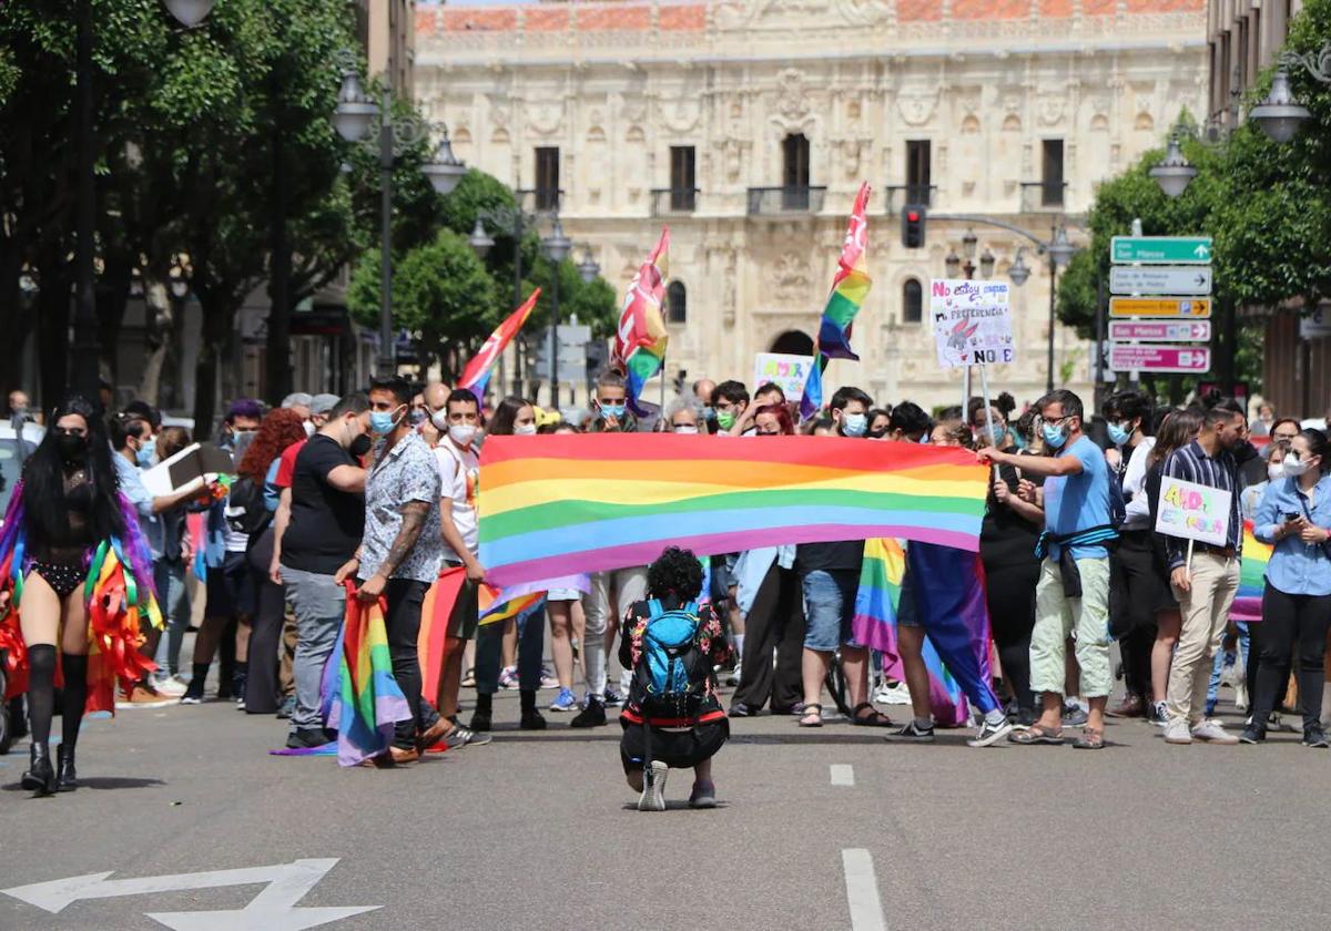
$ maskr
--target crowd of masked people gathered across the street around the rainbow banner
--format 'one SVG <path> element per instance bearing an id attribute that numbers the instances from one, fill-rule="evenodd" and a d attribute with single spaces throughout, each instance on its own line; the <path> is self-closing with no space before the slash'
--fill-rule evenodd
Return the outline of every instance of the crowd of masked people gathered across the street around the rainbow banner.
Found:
<path id="1" fill-rule="evenodd" d="M 664 778 L 644 786 L 643 773 L 666 759 L 697 767 L 691 801 L 707 806 L 715 803 L 709 758 L 729 720 L 767 709 L 803 728 L 823 726 L 831 718 L 824 682 L 832 664 L 844 674 L 851 725 L 881 728 L 896 742 L 934 739 L 942 722 L 932 712 L 922 656 L 938 598 L 909 567 L 948 559 L 936 552 L 946 548 L 906 544 L 897 610 L 901 681 L 882 674 L 882 657 L 852 630 L 862 540 L 711 556 L 707 573 L 681 568 L 673 551 L 660 565 L 594 573 L 580 587 L 552 589 L 543 613 L 478 624 L 486 580 L 479 448 L 488 436 L 535 434 L 651 431 L 716 442 L 805 434 L 973 450 L 992 468 L 980 559 L 993 676 L 968 688 L 977 712 L 972 746 L 1062 743 L 1067 730 L 1079 730 L 1074 746 L 1099 749 L 1106 717 L 1142 718 L 1170 743 L 1258 743 L 1271 730 L 1292 730 L 1282 712 L 1302 716 L 1304 745 L 1327 746 L 1324 431 L 1270 410 L 1250 426 L 1231 399 L 1167 407 L 1134 390 L 1111 394 L 1099 411 L 1087 411 L 1070 391 L 1053 391 L 1024 411 L 1000 395 L 992 404 L 974 398 L 929 414 L 909 400 L 876 403 L 845 387 L 803 424 L 797 402 L 777 384 L 751 394 L 740 382 L 704 379 L 659 415 L 639 419 L 624 379 L 607 372 L 584 416 L 566 419 L 523 398 L 488 408 L 467 390 L 389 378 L 345 398 L 294 394 L 273 410 L 237 400 L 212 438 L 232 454 L 233 475 L 154 493 L 145 471 L 186 450 L 189 431 L 165 426 L 141 402 L 108 415 L 73 398 L 47 416 L 24 471 L 21 626 L 32 733 L 24 785 L 39 791 L 77 785 L 85 701 L 79 684 L 88 665 L 83 583 L 89 552 L 128 537 L 141 537 L 150 552 L 164 630 L 144 625 L 141 652 L 156 669 L 121 682 L 121 706 L 197 705 L 217 660 L 217 700 L 287 720 L 291 749 L 322 746 L 334 737 L 321 717 L 323 670 L 346 600 L 355 597 L 382 600 L 394 678 L 410 705 L 381 765 L 413 762 L 441 742 L 488 742 L 494 696 L 515 689 L 518 726 L 528 730 L 547 728 L 543 710 L 568 714 L 571 728 L 596 728 L 607 724 L 607 708 L 623 705 L 624 769 L 646 805 L 655 806 Z M 1155 531 L 1170 479 L 1231 495 L 1223 544 L 1189 545 Z M 1272 547 L 1264 591 L 1248 613 L 1235 604 L 1246 524 Z M 422 694 L 422 605 L 450 568 L 461 569 L 465 583 L 447 622 L 438 690 Z M 5 591 L 0 601 L 9 597 Z M 646 713 L 643 688 L 635 686 L 650 621 L 683 609 L 700 617 L 707 637 L 705 734 L 697 720 L 681 728 Z M 196 621 L 193 654 L 182 664 L 185 633 Z M 547 629 L 552 668 L 543 658 Z M 63 741 L 51 761 L 57 644 Z M 622 668 L 614 681 L 612 654 Z M 1110 708 L 1115 677 L 1125 696 Z M 1226 678 L 1247 714 L 1242 737 L 1214 717 Z M 720 681 L 735 686 L 724 712 Z M 474 689 L 466 722 L 465 689 Z M 542 708 L 546 689 L 554 694 Z M 884 710 L 893 704 L 909 704 L 909 718 L 893 722 Z M 659 755 L 644 749 L 644 728 Z"/>

